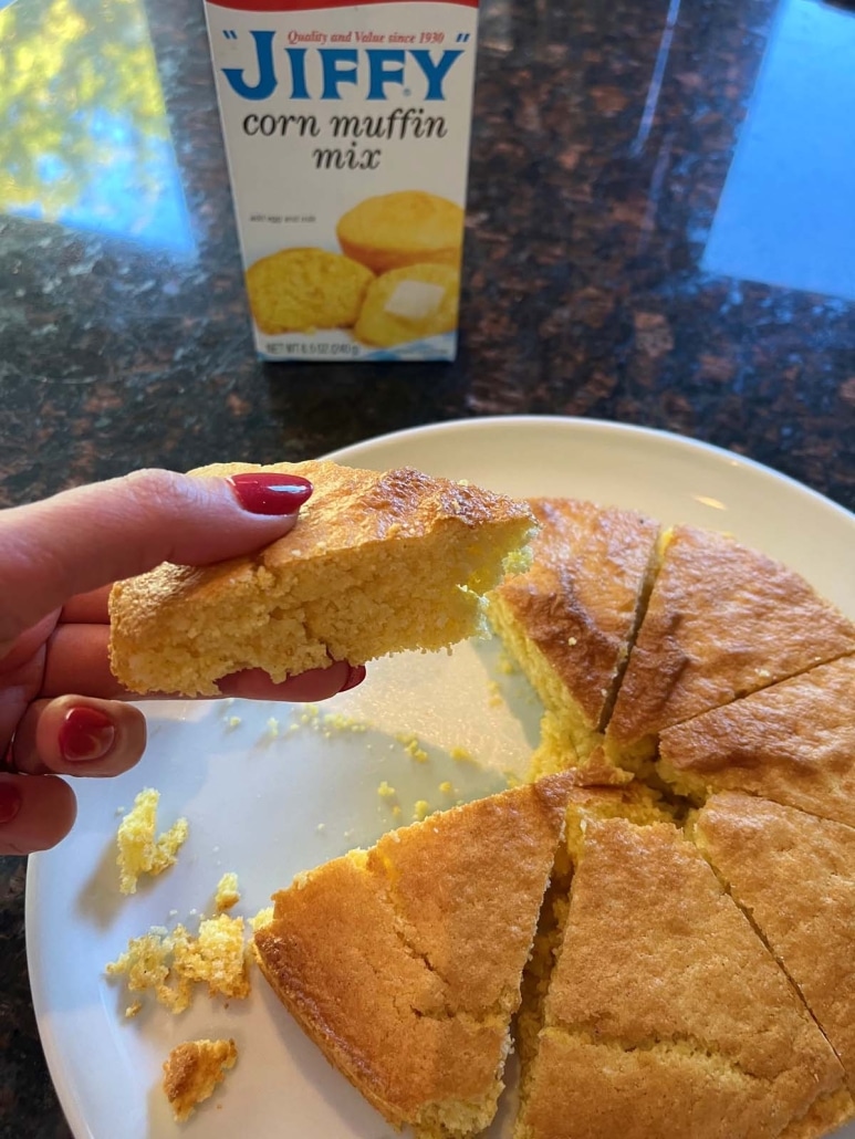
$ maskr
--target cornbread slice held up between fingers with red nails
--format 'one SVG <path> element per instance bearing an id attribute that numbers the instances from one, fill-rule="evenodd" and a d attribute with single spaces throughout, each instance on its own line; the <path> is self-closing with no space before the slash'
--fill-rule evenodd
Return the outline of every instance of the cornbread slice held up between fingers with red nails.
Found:
<path id="1" fill-rule="evenodd" d="M 301 475 L 315 493 L 295 528 L 256 554 L 205 568 L 164 564 L 111 595 L 111 663 L 136 693 L 218 695 L 259 667 L 274 680 L 439 649 L 479 632 L 481 595 L 535 528 L 524 503 L 409 468 L 327 460 L 215 464 Z"/>

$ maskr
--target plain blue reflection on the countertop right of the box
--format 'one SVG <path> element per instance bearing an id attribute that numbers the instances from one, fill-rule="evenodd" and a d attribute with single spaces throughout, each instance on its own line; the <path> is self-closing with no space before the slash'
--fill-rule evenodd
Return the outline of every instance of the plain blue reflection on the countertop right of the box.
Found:
<path id="1" fill-rule="evenodd" d="M 855 300 L 855 15 L 782 0 L 702 267 Z"/>

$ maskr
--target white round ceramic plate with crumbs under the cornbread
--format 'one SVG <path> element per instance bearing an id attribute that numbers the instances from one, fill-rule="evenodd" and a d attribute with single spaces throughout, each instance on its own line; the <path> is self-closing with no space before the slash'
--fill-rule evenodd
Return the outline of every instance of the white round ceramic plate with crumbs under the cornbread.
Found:
<path id="1" fill-rule="evenodd" d="M 726 530 L 804 573 L 855 617 L 855 517 L 765 467 L 684 439 L 573 419 L 480 419 L 385 436 L 335 458 Z M 249 703 L 149 704 L 152 738 L 140 768 L 78 785 L 78 825 L 56 851 L 31 860 L 26 909 L 35 1013 L 78 1139 L 180 1130 L 206 1139 L 391 1139 L 258 974 L 252 997 L 228 1008 L 201 994 L 181 1016 L 155 1006 L 124 1021 L 127 998 L 103 969 L 150 925 L 193 924 L 195 910 L 210 912 L 225 870 L 237 871 L 244 892 L 233 912 L 252 915 L 296 871 L 409 821 L 417 800 L 439 808 L 503 786 L 504 771 L 526 764 L 538 707 L 497 659 L 494 644 L 479 642 L 450 656 L 381 661 L 360 689 L 317 716 Z M 331 729 L 324 716 L 333 713 L 369 728 Z M 480 763 L 454 759 L 455 748 Z M 412 754 L 420 751 L 425 760 Z M 377 794 L 383 780 L 397 790 L 400 818 Z M 439 789 L 445 780 L 451 795 Z M 117 810 L 144 786 L 161 790 L 164 825 L 178 814 L 189 819 L 190 837 L 172 870 L 123 899 Z M 179 1129 L 160 1091 L 161 1064 L 176 1043 L 199 1035 L 234 1036 L 241 1057 L 222 1090 Z M 508 1114 L 492 1139 L 510 1136 Z M 855 1137 L 855 1128 L 841 1134 Z"/>

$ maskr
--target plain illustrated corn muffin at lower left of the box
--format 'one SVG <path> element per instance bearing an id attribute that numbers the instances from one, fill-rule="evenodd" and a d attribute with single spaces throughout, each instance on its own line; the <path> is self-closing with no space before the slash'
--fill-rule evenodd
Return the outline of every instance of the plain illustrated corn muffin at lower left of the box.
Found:
<path id="1" fill-rule="evenodd" d="M 374 274 L 365 265 L 326 249 L 280 249 L 246 272 L 246 289 L 262 333 L 308 333 L 356 323 Z"/>

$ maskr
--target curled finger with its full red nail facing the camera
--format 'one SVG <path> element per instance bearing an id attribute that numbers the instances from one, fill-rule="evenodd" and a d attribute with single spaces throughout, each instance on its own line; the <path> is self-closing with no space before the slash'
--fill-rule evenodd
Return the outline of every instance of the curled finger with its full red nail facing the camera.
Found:
<path id="1" fill-rule="evenodd" d="M 10 762 L 31 776 L 117 776 L 139 761 L 145 746 L 146 721 L 139 708 L 60 696 L 30 705 L 15 732 Z"/>

